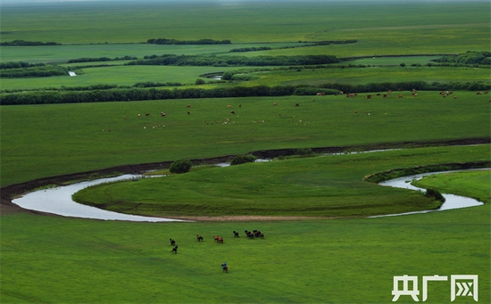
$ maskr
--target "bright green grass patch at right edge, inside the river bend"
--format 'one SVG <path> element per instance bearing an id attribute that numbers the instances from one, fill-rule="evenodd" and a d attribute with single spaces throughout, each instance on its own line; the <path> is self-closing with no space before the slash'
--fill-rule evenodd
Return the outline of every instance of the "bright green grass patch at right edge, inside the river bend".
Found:
<path id="1" fill-rule="evenodd" d="M 470 171 L 438 174 L 412 183 L 424 188 L 436 188 L 441 193 L 454 193 L 490 202 L 491 171 Z"/>

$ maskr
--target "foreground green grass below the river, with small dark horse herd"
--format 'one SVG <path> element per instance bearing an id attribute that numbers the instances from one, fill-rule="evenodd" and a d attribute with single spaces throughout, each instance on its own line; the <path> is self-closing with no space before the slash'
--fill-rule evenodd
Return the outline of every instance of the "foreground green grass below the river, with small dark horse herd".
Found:
<path id="1" fill-rule="evenodd" d="M 467 274 L 479 275 L 479 302 L 487 303 L 489 214 L 485 204 L 402 217 L 283 222 L 2 216 L 1 300 L 390 303 L 395 275 L 417 275 L 421 292 L 423 275 L 450 280 Z M 254 229 L 265 238 L 246 239 L 244 230 Z M 196 242 L 196 234 L 204 242 Z M 223 244 L 212 241 L 217 234 Z M 179 246 L 176 255 L 170 238 Z M 228 274 L 221 271 L 223 262 Z M 429 303 L 449 302 L 450 281 L 429 283 L 428 294 Z M 401 296 L 397 302 L 413 300 Z"/>

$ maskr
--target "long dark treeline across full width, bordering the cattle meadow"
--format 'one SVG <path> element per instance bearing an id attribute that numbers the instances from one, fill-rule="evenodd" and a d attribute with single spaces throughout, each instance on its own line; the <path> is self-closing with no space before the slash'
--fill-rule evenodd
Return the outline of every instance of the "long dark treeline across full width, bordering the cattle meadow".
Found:
<path id="1" fill-rule="evenodd" d="M 95 103 L 95 102 L 121 102 L 144 101 L 181 98 L 222 98 L 222 97 L 248 97 L 248 96 L 286 96 L 286 95 L 314 95 L 318 92 L 326 94 L 387 92 L 401 89 L 416 90 L 489 90 L 490 84 L 484 82 L 427 83 L 413 81 L 407 83 L 372 83 L 366 85 L 324 84 L 322 86 L 233 86 L 214 88 L 184 88 L 184 89 L 156 89 L 152 88 L 117 88 L 92 91 L 34 91 L 16 94 L 0 94 L 0 103 L 8 104 L 41 104 L 41 103 Z"/>

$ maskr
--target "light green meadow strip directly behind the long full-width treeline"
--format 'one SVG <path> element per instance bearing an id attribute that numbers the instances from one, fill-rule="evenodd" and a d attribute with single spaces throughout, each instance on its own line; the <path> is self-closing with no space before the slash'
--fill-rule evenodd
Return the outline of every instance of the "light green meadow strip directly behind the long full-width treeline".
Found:
<path id="1" fill-rule="evenodd" d="M 404 62 L 404 59 L 399 59 Z M 107 62 L 107 64 L 112 64 Z M 116 63 L 118 64 L 118 63 Z M 71 64 L 74 66 L 74 64 Z M 76 64 L 75 64 L 76 66 Z M 262 67 L 262 71 L 250 71 L 240 67 L 178 67 L 178 66 L 112 66 L 82 68 L 76 70 L 76 77 L 56 76 L 46 78 L 3 78 L 2 89 L 43 89 L 61 88 L 62 86 L 90 86 L 109 84 L 133 86 L 138 82 L 179 82 L 193 86 L 196 79 L 205 73 L 221 73 L 227 70 L 238 70 L 237 74 L 246 74 L 251 80 L 234 83 L 216 84 L 213 80 L 209 86 L 319 86 L 325 83 L 367 84 L 382 82 L 426 81 L 429 83 L 451 83 L 489 81 L 489 69 L 463 67 L 367 67 L 367 68 L 325 68 L 284 70 L 278 67 Z"/>

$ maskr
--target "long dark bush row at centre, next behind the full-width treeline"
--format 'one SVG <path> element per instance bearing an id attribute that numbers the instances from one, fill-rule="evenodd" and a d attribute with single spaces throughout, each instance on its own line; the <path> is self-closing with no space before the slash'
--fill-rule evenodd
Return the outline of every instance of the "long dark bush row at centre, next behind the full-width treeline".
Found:
<path id="1" fill-rule="evenodd" d="M 332 55 L 297 55 L 297 56 L 203 56 L 175 55 L 145 56 L 143 60 L 128 62 L 126 65 L 177 65 L 177 66 L 287 66 L 337 63 Z"/>

